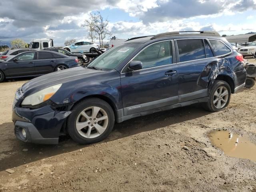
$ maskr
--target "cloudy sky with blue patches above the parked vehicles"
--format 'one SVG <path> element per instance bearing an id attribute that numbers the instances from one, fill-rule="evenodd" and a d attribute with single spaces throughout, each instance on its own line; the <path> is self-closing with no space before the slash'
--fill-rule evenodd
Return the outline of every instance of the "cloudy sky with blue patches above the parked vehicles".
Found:
<path id="1" fill-rule="evenodd" d="M 86 39 L 81 28 L 90 12 L 110 21 L 113 36 L 131 38 L 160 32 L 216 30 L 256 32 L 256 0 L 1 0 L 0 40 Z"/>

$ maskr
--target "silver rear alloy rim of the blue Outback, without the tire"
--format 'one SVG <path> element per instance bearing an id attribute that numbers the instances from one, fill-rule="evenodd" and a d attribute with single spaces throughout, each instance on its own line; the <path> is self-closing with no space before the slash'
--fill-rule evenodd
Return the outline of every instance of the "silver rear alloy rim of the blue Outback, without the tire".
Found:
<path id="1" fill-rule="evenodd" d="M 213 104 L 217 109 L 223 108 L 228 102 L 228 89 L 224 86 L 219 87 L 213 96 Z"/>

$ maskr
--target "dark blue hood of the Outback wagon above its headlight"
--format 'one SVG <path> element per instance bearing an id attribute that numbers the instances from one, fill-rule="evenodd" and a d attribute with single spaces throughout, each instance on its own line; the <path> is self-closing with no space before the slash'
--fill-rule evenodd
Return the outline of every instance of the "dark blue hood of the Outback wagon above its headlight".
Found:
<path id="1" fill-rule="evenodd" d="M 96 76 L 102 74 L 106 71 L 100 71 L 95 69 L 88 69 L 84 67 L 74 67 L 70 69 L 65 69 L 62 71 L 57 71 L 53 73 L 49 73 L 37 78 L 34 78 L 28 82 L 26 82 L 22 86 L 22 91 L 24 92 L 24 96 L 28 96 L 32 93 L 38 92 L 44 88 L 57 85 L 57 84 L 65 84 L 66 82 L 74 82 L 76 80 L 81 80 L 85 78 L 92 78 L 92 76 Z"/>

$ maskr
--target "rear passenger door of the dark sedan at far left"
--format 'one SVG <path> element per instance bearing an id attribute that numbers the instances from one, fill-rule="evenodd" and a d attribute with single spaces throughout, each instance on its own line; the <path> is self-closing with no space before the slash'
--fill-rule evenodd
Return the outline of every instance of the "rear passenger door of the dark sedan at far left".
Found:
<path id="1" fill-rule="evenodd" d="M 51 52 L 39 51 L 35 61 L 36 74 L 47 74 L 54 71 L 56 59 Z"/>

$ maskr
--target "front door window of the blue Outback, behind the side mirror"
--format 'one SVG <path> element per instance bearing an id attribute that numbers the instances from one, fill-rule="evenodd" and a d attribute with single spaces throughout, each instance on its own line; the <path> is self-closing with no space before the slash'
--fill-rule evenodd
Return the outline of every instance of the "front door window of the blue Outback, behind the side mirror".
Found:
<path id="1" fill-rule="evenodd" d="M 172 64 L 171 42 L 164 41 L 152 44 L 133 60 L 141 61 L 143 69 Z"/>

